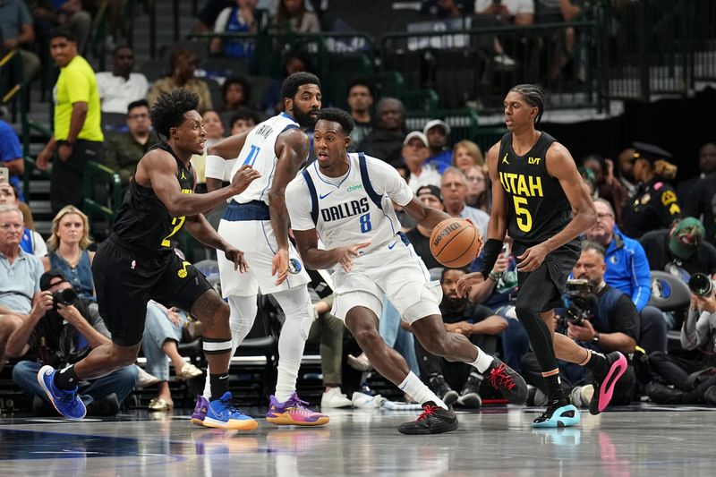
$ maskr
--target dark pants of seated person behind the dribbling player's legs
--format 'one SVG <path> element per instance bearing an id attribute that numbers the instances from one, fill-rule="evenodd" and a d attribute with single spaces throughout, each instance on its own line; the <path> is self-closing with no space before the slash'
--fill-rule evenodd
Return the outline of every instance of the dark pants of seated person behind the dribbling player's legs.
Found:
<path id="1" fill-rule="evenodd" d="M 441 374 L 450 388 L 460 391 L 465 386 L 465 381 L 471 371 L 477 371 L 466 362 L 449 362 L 441 356 L 428 353 L 422 347 L 419 340 L 415 342 L 415 356 L 418 358 L 418 367 L 423 382 L 428 382 L 430 375 Z M 470 342 L 479 346 L 482 351 L 488 354 L 495 354 L 498 347 L 498 336 L 472 335 Z"/>

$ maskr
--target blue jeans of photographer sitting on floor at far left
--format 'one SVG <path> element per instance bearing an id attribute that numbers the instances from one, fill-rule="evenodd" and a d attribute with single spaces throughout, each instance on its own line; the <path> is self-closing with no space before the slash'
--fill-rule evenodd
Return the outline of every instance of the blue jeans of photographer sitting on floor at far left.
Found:
<path id="1" fill-rule="evenodd" d="M 21 361 L 13 367 L 13 381 L 30 397 L 40 396 L 47 400 L 45 390 L 40 388 L 38 383 L 38 371 L 42 367 L 39 362 Z M 89 384 L 81 386 L 79 394 L 85 405 L 92 401 L 98 401 L 112 393 L 117 395 L 117 400 L 122 403 L 129 396 L 137 381 L 137 367 L 127 366 L 121 370 L 99 379 L 92 379 Z"/>

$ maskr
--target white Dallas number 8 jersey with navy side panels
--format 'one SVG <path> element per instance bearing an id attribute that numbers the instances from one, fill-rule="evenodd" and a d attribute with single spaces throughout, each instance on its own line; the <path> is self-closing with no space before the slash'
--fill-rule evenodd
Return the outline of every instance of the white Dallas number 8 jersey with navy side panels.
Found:
<path id="1" fill-rule="evenodd" d="M 296 230 L 316 228 L 326 249 L 370 242 L 362 251 L 397 239 L 400 231 L 391 200 L 405 206 L 413 191 L 385 162 L 362 153 L 348 154 L 348 173 L 327 177 L 318 161 L 289 183 L 286 206 Z"/>

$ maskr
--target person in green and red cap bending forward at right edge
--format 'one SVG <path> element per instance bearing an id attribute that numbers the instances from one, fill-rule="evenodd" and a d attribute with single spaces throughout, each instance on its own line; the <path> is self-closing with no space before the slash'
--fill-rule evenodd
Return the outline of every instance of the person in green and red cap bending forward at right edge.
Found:
<path id="1" fill-rule="evenodd" d="M 670 230 L 644 234 L 639 242 L 652 270 L 665 270 L 687 281 L 695 273 L 716 277 L 716 247 L 704 241 L 703 235 L 703 224 L 686 217 Z"/>

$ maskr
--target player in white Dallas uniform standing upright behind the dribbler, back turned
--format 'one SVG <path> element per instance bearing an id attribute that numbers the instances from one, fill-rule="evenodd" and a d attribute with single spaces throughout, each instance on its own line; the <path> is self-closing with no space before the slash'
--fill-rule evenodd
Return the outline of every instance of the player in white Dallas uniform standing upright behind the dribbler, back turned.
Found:
<path id="1" fill-rule="evenodd" d="M 228 202 L 218 234 L 227 243 L 241 243 L 249 269 L 234 271 L 231 261 L 217 251 L 221 292 L 231 309 L 232 355 L 249 334 L 257 313 L 257 294 L 272 294 L 286 315 L 278 339 L 276 395 L 270 397 L 266 419 L 277 425 L 317 426 L 328 416 L 312 412 L 296 396 L 295 386 L 303 348 L 313 321 L 306 284 L 310 281 L 293 245 L 288 241 L 288 213 L 284 192 L 303 166 L 311 149 L 303 129 L 315 124 L 320 110 L 320 81 L 311 73 L 297 72 L 282 87 L 284 111 L 209 149 L 209 155 L 238 158 L 231 176 L 243 166 L 260 171 L 261 178 Z M 241 152 L 238 152 L 238 151 Z M 204 389 L 192 414 L 200 424 Z"/>

